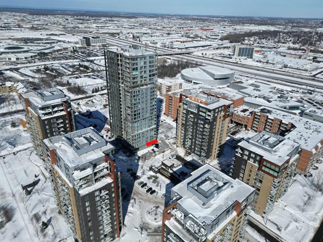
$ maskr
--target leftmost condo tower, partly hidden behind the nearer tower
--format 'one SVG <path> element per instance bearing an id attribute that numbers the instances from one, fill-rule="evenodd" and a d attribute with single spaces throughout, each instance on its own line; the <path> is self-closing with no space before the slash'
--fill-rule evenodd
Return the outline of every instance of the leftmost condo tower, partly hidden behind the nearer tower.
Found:
<path id="1" fill-rule="evenodd" d="M 41 140 L 75 130 L 70 98 L 58 88 L 22 93 L 20 97 L 34 148 L 43 158 Z"/>

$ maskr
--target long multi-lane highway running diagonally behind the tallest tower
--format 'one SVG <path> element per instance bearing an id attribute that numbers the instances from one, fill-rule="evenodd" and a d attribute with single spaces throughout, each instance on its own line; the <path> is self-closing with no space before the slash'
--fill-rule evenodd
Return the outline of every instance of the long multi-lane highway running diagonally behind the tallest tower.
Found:
<path id="1" fill-rule="evenodd" d="M 119 38 L 106 36 L 102 34 L 75 33 L 75 32 L 71 32 L 68 29 L 64 29 L 57 26 L 42 25 L 42 27 L 48 28 L 51 30 L 63 31 L 80 37 L 103 37 L 107 39 L 107 42 L 112 43 L 116 46 L 139 45 L 148 50 L 155 51 L 157 54 L 159 54 L 159 52 L 163 52 L 163 54 L 165 54 L 165 52 L 174 51 L 167 48 L 155 47 L 155 46 L 146 45 L 146 44 L 138 43 L 131 40 L 119 39 Z M 293 86 L 291 84 L 295 84 L 294 87 L 297 87 L 297 88 L 303 88 L 303 89 L 309 89 L 308 87 L 310 87 L 311 89 L 316 88 L 316 89 L 320 89 L 317 91 L 323 92 L 323 79 L 317 78 L 317 77 L 311 77 L 311 76 L 306 76 L 306 75 L 296 74 L 296 73 L 287 73 L 284 71 L 273 70 L 273 69 L 268 69 L 263 67 L 254 67 L 250 65 L 224 61 L 223 59 L 200 57 L 192 54 L 181 54 L 181 55 L 173 56 L 172 58 L 194 61 L 208 66 L 224 67 L 224 68 L 234 70 L 238 74 L 242 73 L 245 75 L 254 75 L 254 76 L 259 76 L 263 78 L 268 78 L 273 81 L 279 81 L 281 84 L 289 83 L 290 86 Z"/>

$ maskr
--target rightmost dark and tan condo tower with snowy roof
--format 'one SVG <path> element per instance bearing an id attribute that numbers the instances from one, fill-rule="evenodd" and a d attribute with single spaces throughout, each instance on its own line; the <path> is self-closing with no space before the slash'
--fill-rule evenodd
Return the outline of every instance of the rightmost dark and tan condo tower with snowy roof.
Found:
<path id="1" fill-rule="evenodd" d="M 232 177 L 256 189 L 252 207 L 260 216 L 288 190 L 299 153 L 296 142 L 265 131 L 238 144 Z"/>

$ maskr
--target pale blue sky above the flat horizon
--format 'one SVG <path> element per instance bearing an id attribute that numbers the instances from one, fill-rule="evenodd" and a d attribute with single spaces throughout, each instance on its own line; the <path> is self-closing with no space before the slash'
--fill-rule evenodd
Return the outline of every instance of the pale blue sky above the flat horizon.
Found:
<path id="1" fill-rule="evenodd" d="M 0 7 L 127 13 L 323 18 L 323 0 L 0 0 Z"/>

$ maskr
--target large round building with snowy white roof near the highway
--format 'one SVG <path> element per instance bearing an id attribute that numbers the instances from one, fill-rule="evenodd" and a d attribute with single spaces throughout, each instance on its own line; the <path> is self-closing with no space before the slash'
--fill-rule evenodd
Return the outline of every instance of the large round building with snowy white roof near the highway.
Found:
<path id="1" fill-rule="evenodd" d="M 222 67 L 195 67 L 184 69 L 181 77 L 185 82 L 208 86 L 228 85 L 234 79 L 235 71 Z"/>

